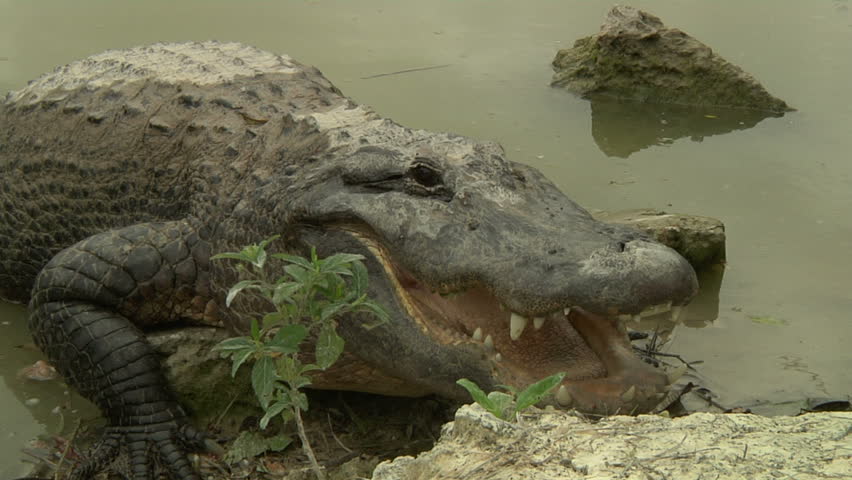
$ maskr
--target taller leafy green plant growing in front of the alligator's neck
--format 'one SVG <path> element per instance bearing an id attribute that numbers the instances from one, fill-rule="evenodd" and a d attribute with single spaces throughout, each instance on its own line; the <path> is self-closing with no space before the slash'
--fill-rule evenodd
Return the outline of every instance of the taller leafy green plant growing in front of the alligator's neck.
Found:
<path id="1" fill-rule="evenodd" d="M 321 259 L 313 248 L 310 258 L 267 253 L 266 247 L 277 238 L 212 257 L 240 262 L 236 268 L 243 279 L 228 291 L 227 306 L 237 295 L 252 292 L 269 307 L 269 313 L 260 321 L 251 319 L 248 336 L 226 339 L 214 350 L 221 352 L 223 358 L 230 357 L 231 376 L 236 376 L 242 365 L 254 362 L 251 384 L 264 410 L 260 428 L 265 429 L 276 417 L 284 422 L 295 420 L 317 478 L 325 478 L 305 434 L 301 412 L 308 410 L 308 398 L 302 389 L 311 384 L 311 372 L 329 368 L 343 352 L 344 341 L 337 333 L 341 315 L 367 312 L 377 321 L 364 326 L 373 328 L 386 322 L 388 314 L 367 297 L 363 256 L 338 253 Z M 274 280 L 269 268 L 271 259 L 284 264 L 283 269 L 275 270 L 283 271 L 283 275 Z M 311 363 L 303 362 L 303 342 L 307 338 L 315 339 Z"/>

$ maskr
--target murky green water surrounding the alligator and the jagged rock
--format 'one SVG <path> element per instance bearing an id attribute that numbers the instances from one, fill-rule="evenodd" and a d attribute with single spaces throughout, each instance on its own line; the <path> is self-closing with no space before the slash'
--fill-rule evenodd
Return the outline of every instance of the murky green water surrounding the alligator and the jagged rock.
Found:
<path id="1" fill-rule="evenodd" d="M 704 41 L 799 111 L 666 139 L 643 130 L 645 121 L 625 121 L 635 112 L 551 90 L 556 50 L 596 31 L 611 6 L 582 0 L 0 0 L 0 91 L 92 53 L 154 41 L 238 40 L 289 53 L 400 123 L 501 142 L 590 208 L 722 219 L 729 264 L 718 318 L 680 328 L 671 348 L 705 361 L 704 381 L 725 403 L 852 393 L 849 2 L 632 4 Z M 439 65 L 447 66 L 363 78 Z M 652 122 L 659 114 L 642 115 Z M 0 322 L 12 322 L 0 325 L 0 464 L 8 465 L 24 439 L 55 428 L 57 401 L 48 398 L 62 389 L 15 377 L 36 355 L 14 348 L 26 342 L 22 311 L 0 308 Z M 44 398 L 24 406 L 31 396 Z"/>

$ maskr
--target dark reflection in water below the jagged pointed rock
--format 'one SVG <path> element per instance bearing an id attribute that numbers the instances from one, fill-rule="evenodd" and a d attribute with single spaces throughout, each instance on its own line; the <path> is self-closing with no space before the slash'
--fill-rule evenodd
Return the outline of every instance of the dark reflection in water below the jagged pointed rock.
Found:
<path id="1" fill-rule="evenodd" d="M 745 130 L 782 114 L 719 107 L 687 107 L 594 99 L 592 137 L 610 157 L 627 158 L 652 145 L 668 145 L 682 137 L 704 137 Z"/>

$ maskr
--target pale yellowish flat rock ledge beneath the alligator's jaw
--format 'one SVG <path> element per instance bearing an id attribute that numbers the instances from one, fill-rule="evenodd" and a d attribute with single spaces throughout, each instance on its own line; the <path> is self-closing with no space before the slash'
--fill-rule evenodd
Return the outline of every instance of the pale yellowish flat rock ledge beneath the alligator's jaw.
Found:
<path id="1" fill-rule="evenodd" d="M 373 480 L 852 478 L 852 412 L 591 423 L 536 410 L 521 427 L 496 422 L 478 405 L 464 406 L 431 451 L 383 462 Z"/>

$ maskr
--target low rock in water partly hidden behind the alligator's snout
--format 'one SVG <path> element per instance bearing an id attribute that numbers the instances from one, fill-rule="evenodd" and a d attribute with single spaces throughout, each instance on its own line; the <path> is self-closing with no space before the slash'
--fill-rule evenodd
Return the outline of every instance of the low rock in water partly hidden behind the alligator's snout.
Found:
<path id="1" fill-rule="evenodd" d="M 715 218 L 654 209 L 594 215 L 601 221 L 631 225 L 653 235 L 658 242 L 683 255 L 696 270 L 725 261 L 725 225 Z"/>

